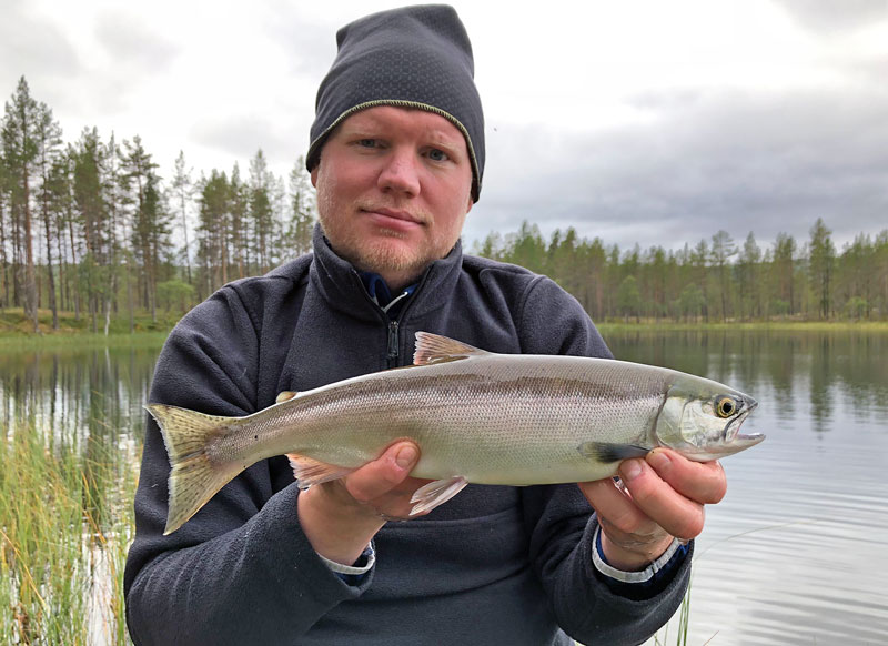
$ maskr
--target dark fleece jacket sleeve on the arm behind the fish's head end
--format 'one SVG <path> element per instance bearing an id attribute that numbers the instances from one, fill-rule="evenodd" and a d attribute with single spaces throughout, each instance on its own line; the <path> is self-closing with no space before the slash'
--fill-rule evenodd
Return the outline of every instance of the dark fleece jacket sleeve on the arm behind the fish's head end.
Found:
<path id="1" fill-rule="evenodd" d="M 523 303 L 523 352 L 613 356 L 579 303 L 552 280 L 535 279 Z M 531 559 L 568 635 L 586 644 L 640 644 L 672 617 L 687 588 L 689 555 L 652 598 L 617 595 L 593 564 L 597 521 L 579 488 L 552 485 L 522 492 Z"/>

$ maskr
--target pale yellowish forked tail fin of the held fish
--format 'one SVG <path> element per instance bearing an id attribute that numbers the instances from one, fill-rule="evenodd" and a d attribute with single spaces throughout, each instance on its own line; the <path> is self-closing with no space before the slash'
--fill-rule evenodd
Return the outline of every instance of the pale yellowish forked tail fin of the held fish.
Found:
<path id="1" fill-rule="evenodd" d="M 206 453 L 208 443 L 240 418 L 205 415 L 165 404 L 149 404 L 145 408 L 160 426 L 172 466 L 165 536 L 184 525 L 243 471 L 238 463 L 215 462 Z"/>

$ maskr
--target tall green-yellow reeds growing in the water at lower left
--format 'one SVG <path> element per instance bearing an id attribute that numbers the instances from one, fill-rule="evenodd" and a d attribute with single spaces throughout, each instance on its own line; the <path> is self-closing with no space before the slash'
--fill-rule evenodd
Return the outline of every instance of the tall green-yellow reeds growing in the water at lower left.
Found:
<path id="1" fill-rule="evenodd" d="M 123 565 L 131 442 L 56 437 L 19 421 L 0 444 L 0 643 L 131 644 Z"/>

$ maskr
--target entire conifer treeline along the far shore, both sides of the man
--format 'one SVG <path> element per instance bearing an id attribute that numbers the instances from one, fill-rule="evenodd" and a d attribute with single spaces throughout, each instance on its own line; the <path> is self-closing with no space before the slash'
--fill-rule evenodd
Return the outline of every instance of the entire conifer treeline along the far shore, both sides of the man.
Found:
<path id="1" fill-rule="evenodd" d="M 89 317 L 184 313 L 224 283 L 311 248 L 314 193 L 295 160 L 286 181 L 259 150 L 245 175 L 194 176 L 180 153 L 164 178 L 138 135 L 84 129 L 65 143 L 52 110 L 22 78 L 0 132 L 0 311 Z M 693 244 L 693 245 L 692 245 Z M 763 249 L 722 230 L 684 249 L 620 250 L 574 229 L 491 233 L 473 251 L 545 273 L 596 321 L 888 319 L 888 229 L 841 251 L 818 219 L 808 240 Z"/>

